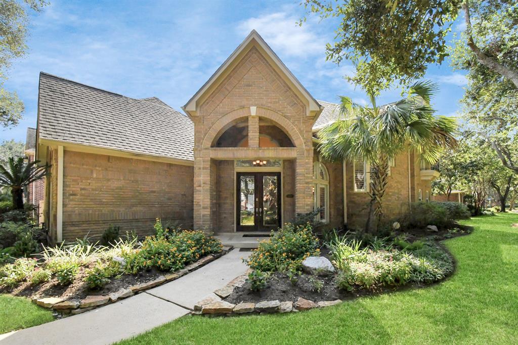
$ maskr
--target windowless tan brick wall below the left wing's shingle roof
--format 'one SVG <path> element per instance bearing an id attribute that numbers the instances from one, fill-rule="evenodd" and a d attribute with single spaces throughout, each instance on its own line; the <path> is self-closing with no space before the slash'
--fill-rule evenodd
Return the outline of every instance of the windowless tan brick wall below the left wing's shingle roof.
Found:
<path id="1" fill-rule="evenodd" d="M 73 151 L 63 160 L 65 240 L 100 236 L 109 224 L 150 234 L 155 218 L 192 227 L 192 166 Z"/>

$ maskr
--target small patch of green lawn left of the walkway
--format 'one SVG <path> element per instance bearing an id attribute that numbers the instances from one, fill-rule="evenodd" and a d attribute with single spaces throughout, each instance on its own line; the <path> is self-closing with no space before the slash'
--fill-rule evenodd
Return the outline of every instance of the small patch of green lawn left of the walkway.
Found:
<path id="1" fill-rule="evenodd" d="M 30 299 L 0 295 L 0 334 L 52 320 L 54 317 L 50 310 L 38 307 Z"/>

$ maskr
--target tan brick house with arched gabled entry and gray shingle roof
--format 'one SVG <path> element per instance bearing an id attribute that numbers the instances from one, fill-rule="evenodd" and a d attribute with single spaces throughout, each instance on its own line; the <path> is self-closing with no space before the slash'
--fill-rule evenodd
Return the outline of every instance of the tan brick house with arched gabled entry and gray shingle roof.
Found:
<path id="1" fill-rule="evenodd" d="M 320 208 L 327 227 L 363 226 L 368 162 L 315 149 L 338 105 L 315 100 L 255 31 L 182 107 L 40 74 L 37 155 L 52 164 L 51 236 L 152 231 L 156 218 L 216 233 L 270 231 Z M 387 217 L 430 194 L 414 152 L 391 166 Z"/>

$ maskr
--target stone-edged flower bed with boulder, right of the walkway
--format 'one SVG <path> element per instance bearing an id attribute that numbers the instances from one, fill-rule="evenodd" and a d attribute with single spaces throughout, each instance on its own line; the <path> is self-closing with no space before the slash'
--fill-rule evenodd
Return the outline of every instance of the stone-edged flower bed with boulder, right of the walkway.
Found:
<path id="1" fill-rule="evenodd" d="M 362 243 L 337 233 L 319 240 L 309 225 L 288 225 L 244 260 L 247 275 L 199 301 L 194 313 L 301 311 L 439 282 L 454 270 L 453 258 L 438 243 L 450 237 L 442 232 L 399 233 Z M 451 237 L 465 233 L 449 232 Z"/>

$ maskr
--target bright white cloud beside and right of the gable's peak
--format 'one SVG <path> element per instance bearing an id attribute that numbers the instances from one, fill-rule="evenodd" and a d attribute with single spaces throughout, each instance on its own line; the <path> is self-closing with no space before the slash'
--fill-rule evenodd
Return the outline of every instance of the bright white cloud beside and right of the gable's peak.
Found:
<path id="1" fill-rule="evenodd" d="M 325 38 L 316 34 L 312 22 L 299 26 L 298 20 L 288 12 L 277 12 L 249 18 L 238 25 L 238 31 L 247 35 L 255 29 L 272 49 L 286 56 L 323 55 Z"/>

